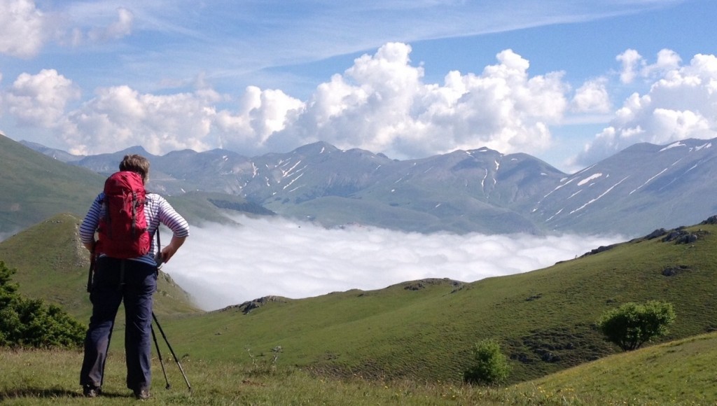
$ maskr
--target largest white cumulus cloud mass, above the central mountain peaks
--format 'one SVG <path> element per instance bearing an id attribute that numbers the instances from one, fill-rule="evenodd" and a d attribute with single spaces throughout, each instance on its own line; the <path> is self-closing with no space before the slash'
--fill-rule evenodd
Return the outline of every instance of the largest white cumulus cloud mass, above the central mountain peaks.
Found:
<path id="1" fill-rule="evenodd" d="M 322 140 L 399 158 L 478 146 L 506 153 L 549 146 L 548 126 L 568 105 L 561 72 L 530 77 L 528 60 L 507 49 L 482 74 L 450 72 L 439 85 L 424 82 L 410 52 L 407 44 L 385 44 L 318 85 L 305 103 L 248 89 L 245 98 L 256 100 L 251 109 L 219 115 L 224 146 L 259 152 Z"/>

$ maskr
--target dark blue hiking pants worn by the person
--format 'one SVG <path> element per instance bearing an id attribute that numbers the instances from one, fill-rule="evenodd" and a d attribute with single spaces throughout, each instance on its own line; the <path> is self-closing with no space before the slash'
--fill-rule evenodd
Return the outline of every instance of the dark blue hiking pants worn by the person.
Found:
<path id="1" fill-rule="evenodd" d="M 92 316 L 80 371 L 82 386 L 102 386 L 115 316 L 120 303 L 124 302 L 127 387 L 135 391 L 149 389 L 152 295 L 156 289 L 156 266 L 134 260 L 98 258 L 90 291 Z"/>

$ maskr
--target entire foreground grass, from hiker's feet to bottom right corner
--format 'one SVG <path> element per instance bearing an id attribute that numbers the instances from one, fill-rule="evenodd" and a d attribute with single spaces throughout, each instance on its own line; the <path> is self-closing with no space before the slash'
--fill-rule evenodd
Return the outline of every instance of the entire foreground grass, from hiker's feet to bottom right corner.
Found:
<path id="1" fill-rule="evenodd" d="M 714 405 L 717 334 L 706 334 L 627 354 L 510 387 L 368 381 L 312 377 L 291 367 L 237 367 L 230 362 L 182 359 L 191 393 L 170 354 L 169 390 L 153 362 L 153 402 L 163 405 Z M 78 351 L 0 349 L 4 405 L 75 405 Z M 74 365 L 75 367 L 68 367 Z M 110 353 L 103 405 L 134 402 L 124 382 L 121 354 Z"/>

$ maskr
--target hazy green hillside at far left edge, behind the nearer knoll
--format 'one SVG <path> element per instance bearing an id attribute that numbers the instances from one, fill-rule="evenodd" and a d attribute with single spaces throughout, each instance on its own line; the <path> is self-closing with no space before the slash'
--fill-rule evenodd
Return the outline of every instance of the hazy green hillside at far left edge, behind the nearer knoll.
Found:
<path id="1" fill-rule="evenodd" d="M 105 176 L 0 135 L 0 238 L 54 214 L 85 214 Z"/>

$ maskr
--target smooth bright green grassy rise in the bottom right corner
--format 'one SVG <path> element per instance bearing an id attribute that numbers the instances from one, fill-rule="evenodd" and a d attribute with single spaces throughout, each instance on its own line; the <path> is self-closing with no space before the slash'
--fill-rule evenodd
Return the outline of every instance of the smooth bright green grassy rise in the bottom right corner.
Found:
<path id="1" fill-rule="evenodd" d="M 703 334 L 599 359 L 518 384 L 515 389 L 555 400 L 576 397 L 595 405 L 604 400 L 630 405 L 715 405 L 716 357 L 717 334 Z"/>

